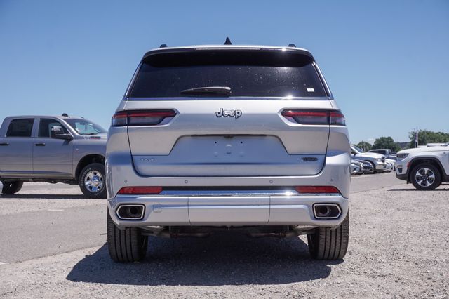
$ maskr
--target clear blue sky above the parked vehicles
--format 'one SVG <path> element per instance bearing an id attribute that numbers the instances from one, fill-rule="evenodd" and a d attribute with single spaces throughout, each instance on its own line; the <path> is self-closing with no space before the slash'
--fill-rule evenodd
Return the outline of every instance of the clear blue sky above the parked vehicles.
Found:
<path id="1" fill-rule="evenodd" d="M 449 132 L 449 1 L 0 0 L 0 119 L 78 115 L 105 128 L 161 44 L 313 53 L 351 142 Z"/>

